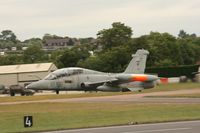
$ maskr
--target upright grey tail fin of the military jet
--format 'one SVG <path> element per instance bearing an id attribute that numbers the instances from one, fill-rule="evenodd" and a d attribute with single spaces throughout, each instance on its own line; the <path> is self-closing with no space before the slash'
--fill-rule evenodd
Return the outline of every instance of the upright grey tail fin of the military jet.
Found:
<path id="1" fill-rule="evenodd" d="M 124 73 L 136 73 L 136 74 L 144 73 L 148 54 L 149 52 L 147 50 L 144 49 L 137 50 L 137 52 L 134 55 L 132 55 L 133 58 L 128 64 L 128 67 L 126 68 Z"/>

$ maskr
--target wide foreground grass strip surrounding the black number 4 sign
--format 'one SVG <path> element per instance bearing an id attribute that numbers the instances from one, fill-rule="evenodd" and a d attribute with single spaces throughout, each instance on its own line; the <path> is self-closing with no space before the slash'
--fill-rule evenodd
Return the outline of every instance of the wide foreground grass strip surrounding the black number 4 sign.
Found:
<path id="1" fill-rule="evenodd" d="M 23 116 L 32 115 L 32 128 Z M 200 104 L 35 103 L 0 106 L 1 132 L 25 132 L 200 119 Z"/>

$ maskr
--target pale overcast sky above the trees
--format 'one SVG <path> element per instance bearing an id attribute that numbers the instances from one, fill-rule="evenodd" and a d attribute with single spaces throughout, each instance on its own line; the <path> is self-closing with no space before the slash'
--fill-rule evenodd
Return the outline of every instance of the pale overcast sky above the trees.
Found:
<path id="1" fill-rule="evenodd" d="M 123 22 L 133 37 L 150 31 L 200 35 L 200 0 L 0 0 L 0 31 L 20 40 L 45 33 L 96 37 L 99 30 Z"/>

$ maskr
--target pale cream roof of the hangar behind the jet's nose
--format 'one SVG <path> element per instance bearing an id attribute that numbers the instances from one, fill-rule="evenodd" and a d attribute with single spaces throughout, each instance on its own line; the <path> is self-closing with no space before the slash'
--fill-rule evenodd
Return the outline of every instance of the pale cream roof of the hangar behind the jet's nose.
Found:
<path id="1" fill-rule="evenodd" d="M 49 71 L 50 68 L 57 69 L 53 63 L 20 64 L 0 66 L 0 74 L 27 73 Z"/>

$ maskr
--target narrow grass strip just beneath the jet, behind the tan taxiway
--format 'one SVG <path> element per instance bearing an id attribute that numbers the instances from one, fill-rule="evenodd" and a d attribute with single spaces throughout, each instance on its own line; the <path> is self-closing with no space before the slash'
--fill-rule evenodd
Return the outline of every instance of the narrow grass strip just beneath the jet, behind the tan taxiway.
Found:
<path id="1" fill-rule="evenodd" d="M 32 101 L 32 100 L 46 100 L 46 99 L 62 99 L 62 98 L 80 98 L 80 97 L 97 97 L 97 96 L 112 96 L 123 94 L 138 94 L 138 93 L 150 93 L 157 91 L 173 91 L 181 89 L 200 89 L 200 83 L 174 83 L 174 84 L 161 84 L 152 89 L 146 89 L 142 92 L 93 92 L 83 94 L 62 94 L 62 95 L 40 95 L 40 96 L 23 96 L 23 97 L 0 97 L 0 103 L 2 102 L 15 102 L 15 101 Z"/>

